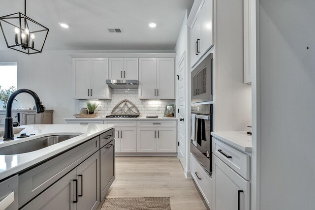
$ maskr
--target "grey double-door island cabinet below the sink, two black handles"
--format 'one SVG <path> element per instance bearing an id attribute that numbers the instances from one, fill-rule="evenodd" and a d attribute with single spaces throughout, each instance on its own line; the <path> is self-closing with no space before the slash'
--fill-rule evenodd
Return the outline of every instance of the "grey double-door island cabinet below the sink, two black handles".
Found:
<path id="1" fill-rule="evenodd" d="M 99 203 L 99 152 L 55 182 L 22 210 L 95 210 Z"/>

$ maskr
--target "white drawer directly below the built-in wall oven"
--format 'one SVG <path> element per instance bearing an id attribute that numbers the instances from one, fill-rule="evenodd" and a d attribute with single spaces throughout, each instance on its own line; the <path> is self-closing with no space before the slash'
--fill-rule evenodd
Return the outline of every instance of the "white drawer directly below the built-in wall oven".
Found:
<path id="1" fill-rule="evenodd" d="M 192 153 L 191 158 L 191 176 L 195 180 L 200 192 L 202 193 L 209 208 L 212 209 L 212 179 L 203 169 Z"/>

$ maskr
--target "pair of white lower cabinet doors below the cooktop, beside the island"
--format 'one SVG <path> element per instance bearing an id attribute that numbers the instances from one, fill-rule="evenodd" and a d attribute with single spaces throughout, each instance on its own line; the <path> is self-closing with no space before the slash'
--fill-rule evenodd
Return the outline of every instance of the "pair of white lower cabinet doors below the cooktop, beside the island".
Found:
<path id="1" fill-rule="evenodd" d="M 115 140 L 116 152 L 137 152 L 136 127 L 117 127 L 115 129 Z"/>

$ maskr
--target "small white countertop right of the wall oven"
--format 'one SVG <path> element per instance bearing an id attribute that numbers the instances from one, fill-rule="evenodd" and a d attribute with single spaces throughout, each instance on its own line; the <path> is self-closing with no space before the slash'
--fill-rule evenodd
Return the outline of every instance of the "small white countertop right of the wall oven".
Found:
<path id="1" fill-rule="evenodd" d="M 239 150 L 252 152 L 252 136 L 246 131 L 219 131 L 211 135 Z"/>

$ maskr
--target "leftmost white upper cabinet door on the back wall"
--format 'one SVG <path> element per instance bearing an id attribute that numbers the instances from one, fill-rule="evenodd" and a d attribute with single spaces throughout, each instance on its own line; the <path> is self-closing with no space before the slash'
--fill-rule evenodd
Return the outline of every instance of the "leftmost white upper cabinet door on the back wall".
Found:
<path id="1" fill-rule="evenodd" d="M 90 59 L 73 59 L 74 99 L 90 98 Z"/>

